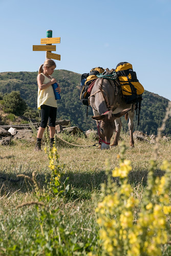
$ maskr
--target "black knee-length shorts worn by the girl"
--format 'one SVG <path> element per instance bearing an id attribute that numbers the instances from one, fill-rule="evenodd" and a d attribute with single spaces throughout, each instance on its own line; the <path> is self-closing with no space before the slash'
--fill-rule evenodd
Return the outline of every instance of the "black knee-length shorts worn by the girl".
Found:
<path id="1" fill-rule="evenodd" d="M 49 126 L 55 127 L 57 108 L 48 105 L 40 106 L 41 123 L 40 127 L 46 128 L 49 118 Z"/>

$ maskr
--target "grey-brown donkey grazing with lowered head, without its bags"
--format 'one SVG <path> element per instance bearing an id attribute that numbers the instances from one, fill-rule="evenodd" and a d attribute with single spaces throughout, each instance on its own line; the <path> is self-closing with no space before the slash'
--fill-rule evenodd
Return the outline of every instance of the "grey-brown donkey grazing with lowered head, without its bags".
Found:
<path id="1" fill-rule="evenodd" d="M 130 146 L 134 146 L 133 139 L 133 119 L 135 105 L 126 104 L 122 97 L 119 81 L 97 78 L 89 97 L 89 104 L 93 109 L 99 135 L 99 144 L 101 149 L 110 148 L 111 137 L 116 131 L 111 146 L 118 145 L 121 120 L 120 117 L 125 115 L 127 120 L 129 116 Z"/>

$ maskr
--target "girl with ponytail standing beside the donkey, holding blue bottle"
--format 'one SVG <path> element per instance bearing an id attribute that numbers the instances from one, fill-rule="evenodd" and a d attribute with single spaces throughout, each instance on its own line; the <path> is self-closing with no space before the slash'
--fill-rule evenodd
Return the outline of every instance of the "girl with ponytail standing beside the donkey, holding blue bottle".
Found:
<path id="1" fill-rule="evenodd" d="M 56 68 L 55 62 L 52 59 L 46 59 L 44 64 L 40 66 L 38 71 L 37 108 L 41 112 L 41 123 L 37 133 L 37 142 L 35 145 L 36 150 L 41 150 L 41 138 L 47 126 L 48 118 L 49 118 L 51 146 L 53 145 L 53 142 L 54 142 L 57 101 L 55 99 L 52 84 L 57 81 L 51 75 L 53 74 L 55 68 Z M 56 91 L 60 93 L 61 91 L 60 87 L 56 88 Z"/>

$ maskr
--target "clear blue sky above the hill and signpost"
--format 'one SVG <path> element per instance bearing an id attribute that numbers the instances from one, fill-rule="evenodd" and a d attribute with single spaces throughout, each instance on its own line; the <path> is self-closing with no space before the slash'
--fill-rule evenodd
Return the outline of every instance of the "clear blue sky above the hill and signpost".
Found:
<path id="1" fill-rule="evenodd" d="M 37 71 L 51 29 L 57 69 L 79 74 L 132 63 L 145 90 L 171 100 L 171 0 L 0 0 L 0 72 Z"/>

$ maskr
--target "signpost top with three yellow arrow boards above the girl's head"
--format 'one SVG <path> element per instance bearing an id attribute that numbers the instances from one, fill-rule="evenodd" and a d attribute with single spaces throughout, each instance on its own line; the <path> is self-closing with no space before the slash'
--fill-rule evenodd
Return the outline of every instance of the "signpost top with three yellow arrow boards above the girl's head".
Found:
<path id="1" fill-rule="evenodd" d="M 56 51 L 56 46 L 52 44 L 60 44 L 60 37 L 52 37 L 52 30 L 47 30 L 47 38 L 41 38 L 40 44 L 40 46 L 33 46 L 33 51 L 46 51 L 46 58 L 60 60 L 59 54 L 51 53 Z"/>

